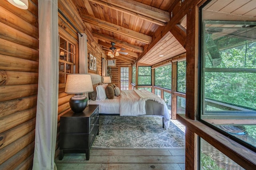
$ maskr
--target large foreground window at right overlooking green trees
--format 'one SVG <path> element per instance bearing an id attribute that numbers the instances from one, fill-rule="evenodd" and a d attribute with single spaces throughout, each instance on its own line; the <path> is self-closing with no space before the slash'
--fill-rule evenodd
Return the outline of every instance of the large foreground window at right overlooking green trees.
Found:
<path id="1" fill-rule="evenodd" d="M 256 22 L 207 17 L 202 10 L 200 119 L 256 150 L 255 122 L 242 121 L 256 118 Z"/>

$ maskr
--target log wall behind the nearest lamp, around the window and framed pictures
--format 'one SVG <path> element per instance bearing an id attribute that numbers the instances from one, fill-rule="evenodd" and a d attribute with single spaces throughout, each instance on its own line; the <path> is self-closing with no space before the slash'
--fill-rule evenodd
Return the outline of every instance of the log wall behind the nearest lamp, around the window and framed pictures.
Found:
<path id="1" fill-rule="evenodd" d="M 102 49 L 98 45 L 98 41 L 92 36 L 91 28 L 88 25 L 85 25 L 80 18 L 76 6 L 73 4 L 72 0 L 58 0 L 58 9 L 70 20 L 70 22 L 80 31 L 80 33 L 85 33 L 87 35 L 87 48 L 88 53 L 91 53 L 97 59 L 97 70 L 88 70 L 89 73 L 102 74 Z M 78 33 L 66 21 L 66 19 L 58 13 L 58 29 L 59 34 L 67 39 L 69 42 L 73 43 L 76 46 L 76 73 L 79 72 L 78 66 L 78 56 L 79 56 L 79 44 L 78 44 Z M 80 35 L 79 35 L 80 36 Z M 89 55 L 88 55 L 89 57 Z M 89 66 L 89 58 L 88 58 Z M 58 96 L 58 129 L 57 129 L 57 141 L 56 141 L 56 152 L 55 156 L 59 154 L 59 127 L 60 127 L 60 116 L 64 115 L 70 110 L 69 99 L 70 95 L 64 93 L 65 84 L 59 84 L 59 96 Z"/>

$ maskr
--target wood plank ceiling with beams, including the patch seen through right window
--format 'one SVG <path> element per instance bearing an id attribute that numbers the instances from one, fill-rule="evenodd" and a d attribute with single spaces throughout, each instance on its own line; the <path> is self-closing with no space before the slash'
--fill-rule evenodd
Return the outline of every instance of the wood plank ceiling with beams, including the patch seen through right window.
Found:
<path id="1" fill-rule="evenodd" d="M 251 9 L 250 6 L 253 1 L 246 0 L 243 4 L 237 3 L 237 0 L 214 3 L 218 6 L 211 6 L 206 9 L 206 12 L 212 17 L 210 19 L 215 17 L 219 19 L 223 15 L 224 20 L 231 20 L 236 15 L 254 20 L 255 8 Z M 186 53 L 186 15 L 175 16 L 182 15 L 176 9 L 180 10 L 182 6 L 180 3 L 186 3 L 186 1 L 73 0 L 73 2 L 83 21 L 92 28 L 92 35 L 106 54 L 107 49 L 112 47 L 110 43 L 114 42 L 116 49 L 123 48 L 116 58 L 128 64 L 139 62 L 154 65 Z M 248 7 L 244 8 L 246 4 Z M 212 15 L 213 12 L 214 15 Z M 172 18 L 172 13 L 178 21 Z M 176 23 L 171 23 L 171 19 Z M 162 31 L 164 27 L 167 27 L 168 31 Z M 161 31 L 160 37 L 159 31 Z M 124 55 L 122 52 L 128 54 Z M 164 56 L 159 57 L 159 55 Z"/>

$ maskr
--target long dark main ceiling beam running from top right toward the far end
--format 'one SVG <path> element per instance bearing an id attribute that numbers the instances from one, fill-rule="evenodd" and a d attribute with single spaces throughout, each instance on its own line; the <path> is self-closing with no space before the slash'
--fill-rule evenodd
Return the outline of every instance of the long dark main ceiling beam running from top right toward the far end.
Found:
<path id="1" fill-rule="evenodd" d="M 140 54 L 140 57 L 138 57 L 132 65 L 138 63 L 138 61 L 140 61 L 140 59 L 155 45 L 157 45 L 162 37 L 164 37 L 169 31 L 172 32 L 174 26 L 190 11 L 191 8 L 203 1 L 205 0 L 185 0 L 180 4 L 180 1 L 176 0 L 170 9 L 172 14 L 170 22 L 168 22 L 166 26 L 161 26 L 156 30 L 152 36 L 152 43 L 145 45 L 144 52 Z"/>

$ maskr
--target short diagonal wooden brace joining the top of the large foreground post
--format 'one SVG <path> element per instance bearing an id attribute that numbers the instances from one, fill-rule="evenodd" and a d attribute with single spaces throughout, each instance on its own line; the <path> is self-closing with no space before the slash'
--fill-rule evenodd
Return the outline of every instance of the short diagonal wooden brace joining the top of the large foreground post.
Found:
<path id="1" fill-rule="evenodd" d="M 172 35 L 179 41 L 179 43 L 186 48 L 186 28 L 184 28 L 180 24 L 174 25 L 172 31 Z"/>

